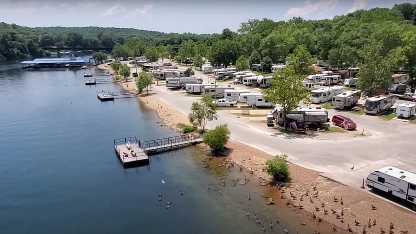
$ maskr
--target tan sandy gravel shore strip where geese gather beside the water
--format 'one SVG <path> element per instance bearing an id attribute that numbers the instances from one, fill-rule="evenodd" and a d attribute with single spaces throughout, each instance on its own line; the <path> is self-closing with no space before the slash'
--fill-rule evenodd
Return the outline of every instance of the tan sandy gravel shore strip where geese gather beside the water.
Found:
<path id="1" fill-rule="evenodd" d="M 106 67 L 106 64 L 101 64 L 98 68 L 110 69 Z M 136 89 L 134 81 L 123 82 L 121 87 L 129 90 Z M 178 123 L 189 124 L 188 116 L 163 101 L 159 101 L 155 96 L 139 95 L 137 98 L 148 108 L 154 110 L 165 126 L 180 131 L 177 127 Z M 205 148 L 206 146 L 201 145 L 201 147 Z M 394 233 L 396 234 L 400 234 L 400 230 L 416 233 L 416 216 L 414 212 L 397 207 L 366 192 L 341 185 L 320 176 L 319 172 L 294 164 L 290 164 L 290 183 L 285 185 L 282 190 L 279 190 L 276 186 L 269 185 L 271 177 L 262 170 L 265 161 L 272 158 L 273 155 L 235 140 L 230 140 L 227 147 L 231 152 L 228 155 L 231 161 L 252 172 L 259 179 L 261 185 L 270 186 L 270 194 L 267 195 L 274 197 L 275 202 L 286 204 L 290 201 L 288 206 L 299 212 L 300 217 L 308 216 L 304 217 L 303 220 L 312 219 L 313 212 L 317 217 L 322 218 L 324 222 L 326 221 L 337 226 L 337 229 L 347 230 L 349 224 L 354 232 L 363 233 L 364 226 L 371 219 L 371 227 L 366 226 L 366 233 L 378 234 L 380 233 L 380 228 L 389 233 L 390 222 L 394 223 Z M 314 189 L 315 186 L 316 188 Z M 293 197 L 291 197 L 290 193 L 293 194 Z M 285 198 L 281 198 L 280 195 Z M 335 201 L 334 197 L 338 200 Z M 321 202 L 324 204 L 324 207 L 322 207 Z M 377 209 L 371 209 L 371 204 L 377 207 Z M 299 205 L 302 205 L 304 208 L 299 209 Z M 319 211 L 316 210 L 315 206 L 319 208 Z M 334 212 L 332 212 L 332 209 Z M 325 210 L 328 211 L 327 214 L 325 214 Z M 339 218 L 337 218 L 335 213 L 339 215 Z M 373 225 L 374 219 L 376 219 L 375 226 Z M 354 220 L 360 222 L 361 225 L 354 225 Z"/>

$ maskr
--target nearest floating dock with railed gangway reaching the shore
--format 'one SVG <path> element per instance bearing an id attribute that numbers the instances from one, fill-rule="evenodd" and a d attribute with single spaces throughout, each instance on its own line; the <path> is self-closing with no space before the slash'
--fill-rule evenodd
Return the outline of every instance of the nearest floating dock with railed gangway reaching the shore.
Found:
<path id="1" fill-rule="evenodd" d="M 114 140 L 114 149 L 124 167 L 149 163 L 149 155 L 174 150 L 203 142 L 202 138 L 193 135 L 178 135 L 143 143 L 136 137 Z"/>

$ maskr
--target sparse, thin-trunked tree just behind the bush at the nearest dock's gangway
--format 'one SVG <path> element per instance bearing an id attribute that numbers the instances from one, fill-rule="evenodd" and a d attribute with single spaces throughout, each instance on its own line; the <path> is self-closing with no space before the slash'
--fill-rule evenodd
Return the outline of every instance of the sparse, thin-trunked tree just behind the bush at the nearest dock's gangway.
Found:
<path id="1" fill-rule="evenodd" d="M 201 128 L 205 131 L 205 126 L 208 121 L 216 120 L 217 106 L 213 103 L 213 98 L 208 95 L 203 95 L 200 101 L 194 101 L 189 113 L 188 119 L 192 126 Z"/>

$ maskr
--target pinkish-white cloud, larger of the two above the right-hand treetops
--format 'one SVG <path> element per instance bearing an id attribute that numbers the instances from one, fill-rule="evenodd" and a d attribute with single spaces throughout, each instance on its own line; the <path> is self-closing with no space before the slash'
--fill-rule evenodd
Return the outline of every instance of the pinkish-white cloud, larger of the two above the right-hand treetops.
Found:
<path id="1" fill-rule="evenodd" d="M 330 10 L 334 10 L 337 4 L 338 0 L 319 0 L 316 3 L 312 3 L 312 1 L 306 0 L 303 7 L 292 7 L 286 12 L 285 16 L 305 17 L 308 15 L 324 15 Z"/>

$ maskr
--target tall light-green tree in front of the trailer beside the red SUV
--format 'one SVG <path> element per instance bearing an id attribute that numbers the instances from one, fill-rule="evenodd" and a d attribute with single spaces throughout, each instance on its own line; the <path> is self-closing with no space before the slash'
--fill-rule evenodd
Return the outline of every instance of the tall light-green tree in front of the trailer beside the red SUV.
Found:
<path id="1" fill-rule="evenodd" d="M 284 69 L 275 72 L 271 86 L 262 91 L 267 101 L 282 106 L 285 128 L 287 128 L 287 113 L 297 108 L 300 101 L 305 104 L 310 102 L 309 92 L 302 84 L 303 79 L 303 75 L 296 74 L 292 66 L 286 66 Z"/>

